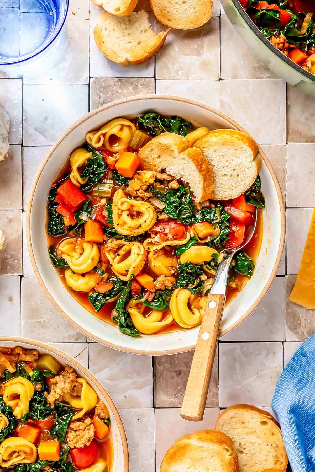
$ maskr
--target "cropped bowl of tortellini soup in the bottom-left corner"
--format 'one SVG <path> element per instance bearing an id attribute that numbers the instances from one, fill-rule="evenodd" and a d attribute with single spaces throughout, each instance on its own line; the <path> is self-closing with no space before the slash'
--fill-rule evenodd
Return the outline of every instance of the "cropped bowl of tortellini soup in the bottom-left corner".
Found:
<path id="1" fill-rule="evenodd" d="M 2 469 L 129 470 L 111 397 L 85 367 L 46 344 L 0 337 L 0 425 Z"/>

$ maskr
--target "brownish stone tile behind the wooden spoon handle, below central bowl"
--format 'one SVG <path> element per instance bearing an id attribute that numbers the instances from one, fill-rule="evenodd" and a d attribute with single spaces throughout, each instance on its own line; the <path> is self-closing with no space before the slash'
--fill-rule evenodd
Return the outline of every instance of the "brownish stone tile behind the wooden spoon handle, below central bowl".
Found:
<path id="1" fill-rule="evenodd" d="M 154 406 L 179 407 L 182 404 L 194 352 L 154 357 Z M 219 403 L 218 355 L 216 354 L 206 406 Z"/>

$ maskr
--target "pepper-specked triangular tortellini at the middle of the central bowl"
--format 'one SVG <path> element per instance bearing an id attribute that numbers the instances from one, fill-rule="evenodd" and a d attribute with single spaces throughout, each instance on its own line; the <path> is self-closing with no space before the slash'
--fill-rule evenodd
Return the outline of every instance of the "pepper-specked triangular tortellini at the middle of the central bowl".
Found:
<path id="1" fill-rule="evenodd" d="M 152 228 L 156 213 L 150 203 L 126 198 L 117 190 L 112 201 L 113 225 L 119 234 L 138 236 Z"/>

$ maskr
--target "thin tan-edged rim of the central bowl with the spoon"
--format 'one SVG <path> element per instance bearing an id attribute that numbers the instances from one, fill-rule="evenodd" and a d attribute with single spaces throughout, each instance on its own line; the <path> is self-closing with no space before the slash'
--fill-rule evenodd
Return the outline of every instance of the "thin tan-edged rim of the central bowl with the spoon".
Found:
<path id="1" fill-rule="evenodd" d="M 36 278 L 37 278 L 44 294 L 46 295 L 48 300 L 51 302 L 51 304 L 56 308 L 56 310 L 58 312 L 60 312 L 60 314 L 63 316 L 63 318 L 65 320 L 67 320 L 72 326 L 74 326 L 78 331 L 83 333 L 85 336 L 94 339 L 94 341 L 97 341 L 100 344 L 111 347 L 111 348 L 116 349 L 118 351 L 128 352 L 128 353 L 131 353 L 131 354 L 142 354 L 142 355 L 169 355 L 169 354 L 179 354 L 179 353 L 183 353 L 183 352 L 187 352 L 187 351 L 192 351 L 193 349 L 195 349 L 196 344 L 193 344 L 191 346 L 178 348 L 178 349 L 167 349 L 167 350 L 164 350 L 164 351 L 155 351 L 155 350 L 149 351 L 148 350 L 148 351 L 143 352 L 141 349 L 133 349 L 133 348 L 129 348 L 129 347 L 123 347 L 123 346 L 119 346 L 117 344 L 113 344 L 109 341 L 106 341 L 105 339 L 102 339 L 102 338 L 96 336 L 95 334 L 91 333 L 90 331 L 87 331 L 86 329 L 82 328 L 74 320 L 72 320 L 72 318 L 66 312 L 64 312 L 60 308 L 59 304 L 52 298 L 51 294 L 49 293 L 49 291 L 48 291 L 46 285 L 44 284 L 43 279 L 42 279 L 42 277 L 39 273 L 39 270 L 37 268 L 36 261 L 35 261 L 35 258 L 34 258 L 34 253 L 33 253 L 32 239 L 31 239 L 31 225 L 30 225 L 31 212 L 32 212 L 32 206 L 33 206 L 33 198 L 34 198 L 34 192 L 35 192 L 37 182 L 38 182 L 38 180 L 39 180 L 39 178 L 42 174 L 42 171 L 43 171 L 46 163 L 50 159 L 51 154 L 58 148 L 59 144 L 65 139 L 65 137 L 68 136 L 78 125 L 80 125 L 81 123 L 83 123 L 84 121 L 89 119 L 90 117 L 102 112 L 103 110 L 108 110 L 112 107 L 115 107 L 116 105 L 124 104 L 124 103 L 130 102 L 130 101 L 153 100 L 153 99 L 181 101 L 183 103 L 188 103 L 190 105 L 194 105 L 196 107 L 203 108 L 204 110 L 210 111 L 213 114 L 217 115 L 218 117 L 223 118 L 228 123 L 230 123 L 230 125 L 235 126 L 235 128 L 238 129 L 239 131 L 247 133 L 247 131 L 242 126 L 238 125 L 238 123 L 236 123 L 232 118 L 228 117 L 227 115 L 225 115 L 221 111 L 216 110 L 215 108 L 212 108 L 208 105 L 205 105 L 204 103 L 200 103 L 198 101 L 190 100 L 190 99 L 187 99 L 187 98 L 176 97 L 176 96 L 173 96 L 173 95 L 155 95 L 155 94 L 140 95 L 140 96 L 137 96 L 137 97 L 129 97 L 129 98 L 124 98 L 124 99 L 112 101 L 110 103 L 107 103 L 106 105 L 103 105 L 102 107 L 96 108 L 95 110 L 90 111 L 89 113 L 87 113 L 82 118 L 79 118 L 72 126 L 70 126 L 60 136 L 60 138 L 57 139 L 57 141 L 51 146 L 50 150 L 47 152 L 46 156 L 44 157 L 43 161 L 41 162 L 40 167 L 37 170 L 37 173 L 34 177 L 34 180 L 33 180 L 32 186 L 31 186 L 31 190 L 30 190 L 30 193 L 29 193 L 28 201 L 27 201 L 26 240 L 27 240 L 28 253 L 29 253 L 29 256 L 30 256 L 30 260 L 31 260 L 34 272 L 35 272 L 35 276 L 36 276 Z M 268 171 L 269 171 L 269 173 L 272 177 L 272 181 L 273 181 L 273 184 L 276 188 L 278 201 L 279 201 L 279 205 L 280 205 L 281 233 L 280 233 L 279 249 L 278 249 L 276 260 L 275 260 L 274 265 L 273 265 L 272 272 L 271 272 L 271 274 L 270 274 L 270 276 L 269 276 L 262 292 L 259 294 L 259 296 L 256 298 L 255 302 L 249 307 L 249 309 L 243 314 L 243 316 L 237 322 L 233 323 L 229 328 L 224 329 L 220 333 L 220 337 L 225 336 L 226 334 L 230 333 L 230 331 L 232 331 L 238 325 L 240 325 L 243 321 L 245 321 L 248 318 L 248 316 L 255 310 L 255 308 L 258 306 L 258 304 L 262 301 L 262 299 L 266 295 L 269 287 L 271 286 L 273 279 L 276 276 L 278 267 L 280 265 L 283 249 L 284 249 L 285 231 L 286 231 L 285 230 L 285 207 L 284 207 L 281 187 L 280 187 L 278 178 L 275 174 L 275 171 L 272 168 L 272 165 L 271 165 L 269 159 L 266 157 L 266 155 L 264 154 L 263 150 L 260 147 L 259 147 L 259 153 L 260 153 L 260 155 L 261 155 L 261 157 L 262 157 L 265 165 L 267 166 L 267 169 L 268 169 Z"/>

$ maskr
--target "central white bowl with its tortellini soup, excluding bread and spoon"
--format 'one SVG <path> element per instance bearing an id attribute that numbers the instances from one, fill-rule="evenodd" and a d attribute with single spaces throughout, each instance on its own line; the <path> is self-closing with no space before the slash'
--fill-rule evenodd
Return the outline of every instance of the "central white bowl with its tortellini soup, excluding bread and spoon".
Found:
<path id="1" fill-rule="evenodd" d="M 236 199 L 199 202 L 189 183 L 140 164 L 163 133 L 184 146 L 221 128 L 244 132 L 201 103 L 143 96 L 94 110 L 51 147 L 29 196 L 28 249 L 45 295 L 87 336 L 137 354 L 193 349 L 222 250 L 245 237 L 254 211 L 255 235 L 232 261 L 221 336 L 264 297 L 285 235 L 280 185 L 264 152 L 240 196 L 244 224 L 228 210 Z"/>

